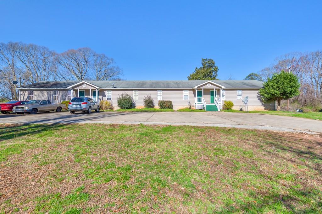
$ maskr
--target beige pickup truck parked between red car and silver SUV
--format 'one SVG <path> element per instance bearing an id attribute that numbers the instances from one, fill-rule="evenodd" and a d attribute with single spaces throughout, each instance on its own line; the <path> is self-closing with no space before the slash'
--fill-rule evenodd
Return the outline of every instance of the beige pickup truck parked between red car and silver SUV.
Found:
<path id="1" fill-rule="evenodd" d="M 52 104 L 50 100 L 30 100 L 24 105 L 14 106 L 12 111 L 17 114 L 37 114 L 37 112 L 61 112 L 65 104 Z"/>

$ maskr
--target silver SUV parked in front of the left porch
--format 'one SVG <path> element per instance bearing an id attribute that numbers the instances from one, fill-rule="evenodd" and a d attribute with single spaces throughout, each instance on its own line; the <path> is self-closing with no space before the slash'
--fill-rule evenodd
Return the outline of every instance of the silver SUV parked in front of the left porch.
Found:
<path id="1" fill-rule="evenodd" d="M 87 112 L 90 114 L 92 110 L 99 112 L 99 103 L 88 97 L 75 97 L 68 103 L 68 110 L 71 114 L 75 111 Z"/>

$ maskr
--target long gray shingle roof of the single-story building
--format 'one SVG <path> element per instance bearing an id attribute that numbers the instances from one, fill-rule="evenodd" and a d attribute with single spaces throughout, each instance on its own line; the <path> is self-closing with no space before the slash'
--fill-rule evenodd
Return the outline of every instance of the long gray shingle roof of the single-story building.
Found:
<path id="1" fill-rule="evenodd" d="M 43 81 L 30 85 L 22 86 L 21 89 L 67 89 L 68 86 L 74 85 L 81 81 Z M 102 89 L 171 89 L 183 88 L 189 89 L 194 86 L 207 82 L 205 80 L 144 80 L 144 81 L 86 81 Z M 224 86 L 225 88 L 262 88 L 263 83 L 257 80 L 214 80 L 213 82 Z"/>

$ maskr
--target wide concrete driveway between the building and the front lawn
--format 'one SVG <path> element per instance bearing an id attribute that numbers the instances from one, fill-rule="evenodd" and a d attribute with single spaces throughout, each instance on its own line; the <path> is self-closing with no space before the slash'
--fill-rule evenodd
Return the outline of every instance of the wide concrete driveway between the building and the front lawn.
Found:
<path id="1" fill-rule="evenodd" d="M 322 121 L 265 114 L 229 112 L 51 112 L 36 115 L 0 114 L 0 123 L 105 123 L 220 126 L 271 131 L 322 133 Z"/>

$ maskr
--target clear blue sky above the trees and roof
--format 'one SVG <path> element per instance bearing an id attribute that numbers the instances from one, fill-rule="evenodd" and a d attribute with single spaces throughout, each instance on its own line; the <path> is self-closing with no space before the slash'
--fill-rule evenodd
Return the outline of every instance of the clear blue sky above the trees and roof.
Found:
<path id="1" fill-rule="evenodd" d="M 95 4 L 94 4 L 95 2 Z M 322 48 L 322 1 L 1 1 L 0 42 L 90 47 L 126 80 L 186 80 L 201 58 L 243 79 Z"/>

